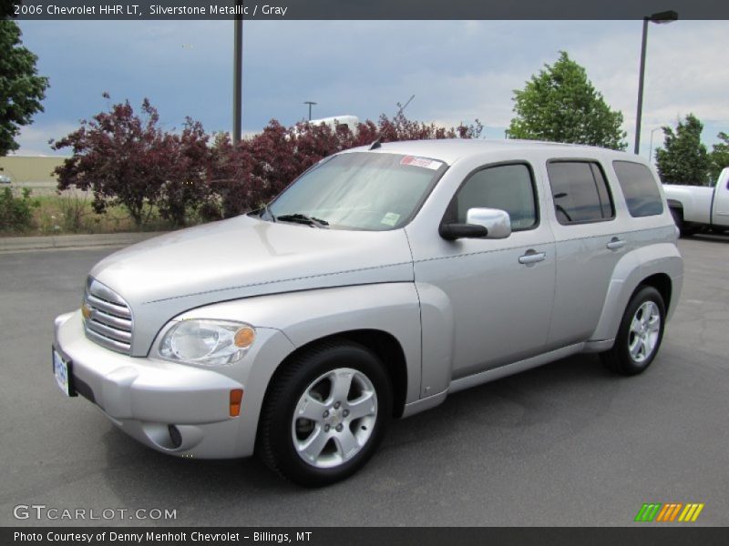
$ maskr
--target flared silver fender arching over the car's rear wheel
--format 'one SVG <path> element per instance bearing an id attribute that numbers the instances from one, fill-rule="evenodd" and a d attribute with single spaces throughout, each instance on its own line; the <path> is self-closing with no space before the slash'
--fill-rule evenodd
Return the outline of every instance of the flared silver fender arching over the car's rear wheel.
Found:
<path id="1" fill-rule="evenodd" d="M 636 248 L 625 254 L 612 271 L 600 321 L 590 336 L 590 341 L 614 339 L 618 335 L 622 315 L 635 288 L 645 278 L 659 273 L 671 278 L 671 301 L 665 302 L 668 308 L 667 319 L 670 319 L 681 295 L 683 258 L 673 243 Z"/>

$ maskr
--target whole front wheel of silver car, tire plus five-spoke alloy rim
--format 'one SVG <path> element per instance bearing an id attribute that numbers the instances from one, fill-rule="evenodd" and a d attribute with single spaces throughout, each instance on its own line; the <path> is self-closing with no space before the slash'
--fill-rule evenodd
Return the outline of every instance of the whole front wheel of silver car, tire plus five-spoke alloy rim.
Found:
<path id="1" fill-rule="evenodd" d="M 269 468 L 303 486 L 344 480 L 375 452 L 392 399 L 390 380 L 372 351 L 344 340 L 319 345 L 272 379 L 257 452 Z"/>

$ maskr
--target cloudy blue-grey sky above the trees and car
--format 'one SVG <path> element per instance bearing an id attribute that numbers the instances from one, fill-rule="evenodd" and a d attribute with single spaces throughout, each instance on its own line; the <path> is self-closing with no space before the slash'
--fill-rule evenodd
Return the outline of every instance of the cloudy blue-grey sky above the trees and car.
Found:
<path id="1" fill-rule="evenodd" d="M 24 43 L 49 76 L 46 112 L 24 129 L 19 153 L 51 155 L 46 142 L 78 121 L 148 96 L 165 128 L 185 116 L 211 131 L 231 129 L 232 22 L 23 21 Z M 512 90 L 560 50 L 585 66 L 593 84 L 620 109 L 634 138 L 641 21 L 252 21 L 244 24 L 243 130 L 272 118 L 375 119 L 416 97 L 407 116 L 444 125 L 472 122 L 502 138 Z M 729 132 L 729 21 L 650 25 L 642 154 L 651 131 L 693 112 L 703 140 Z M 662 131 L 653 133 L 653 149 Z"/>

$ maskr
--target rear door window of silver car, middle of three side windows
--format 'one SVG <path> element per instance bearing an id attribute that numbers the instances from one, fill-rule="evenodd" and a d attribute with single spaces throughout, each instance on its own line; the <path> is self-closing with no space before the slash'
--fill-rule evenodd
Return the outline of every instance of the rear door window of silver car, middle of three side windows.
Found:
<path id="1" fill-rule="evenodd" d="M 550 161 L 547 172 L 560 224 L 598 222 L 615 217 L 610 189 L 597 163 Z"/>

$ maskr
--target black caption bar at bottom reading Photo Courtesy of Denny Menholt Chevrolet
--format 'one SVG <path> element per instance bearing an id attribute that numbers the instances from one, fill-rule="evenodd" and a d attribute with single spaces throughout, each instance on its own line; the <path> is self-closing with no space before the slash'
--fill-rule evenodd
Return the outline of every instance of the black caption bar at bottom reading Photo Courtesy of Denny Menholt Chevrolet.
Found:
<path id="1" fill-rule="evenodd" d="M 215 527 L 36 527 L 0 528 L 0 543 L 34 546 L 484 546 L 519 544 L 533 546 L 687 545 L 714 546 L 727 543 L 726 528 L 656 526 L 651 523 L 619 528 L 215 528 Z"/>

